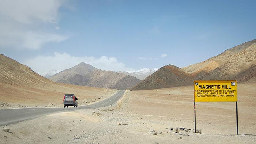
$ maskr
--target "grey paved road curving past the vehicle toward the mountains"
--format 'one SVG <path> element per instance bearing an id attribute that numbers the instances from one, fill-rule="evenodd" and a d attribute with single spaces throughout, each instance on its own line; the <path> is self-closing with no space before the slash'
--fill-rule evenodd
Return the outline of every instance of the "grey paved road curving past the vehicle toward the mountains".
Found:
<path id="1" fill-rule="evenodd" d="M 69 107 L 69 108 L 21 108 L 21 109 L 2 109 L 0 110 L 0 126 L 28 120 L 31 118 L 41 117 L 43 115 L 57 113 L 61 111 L 74 111 L 82 109 L 94 109 L 114 105 L 124 95 L 124 90 L 116 92 L 107 99 L 86 106 Z M 61 99 L 62 100 L 62 99 Z M 61 101 L 60 100 L 60 101 Z"/>

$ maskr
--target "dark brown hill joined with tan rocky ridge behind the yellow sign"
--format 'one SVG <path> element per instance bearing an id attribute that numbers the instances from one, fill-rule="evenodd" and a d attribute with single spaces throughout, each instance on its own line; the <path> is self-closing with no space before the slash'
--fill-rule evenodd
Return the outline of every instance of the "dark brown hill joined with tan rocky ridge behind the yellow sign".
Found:
<path id="1" fill-rule="evenodd" d="M 192 84 L 193 80 L 234 79 L 245 82 L 255 79 L 254 65 L 256 65 L 256 39 L 182 69 L 172 65 L 164 66 L 132 87 L 132 90 L 176 87 Z"/>

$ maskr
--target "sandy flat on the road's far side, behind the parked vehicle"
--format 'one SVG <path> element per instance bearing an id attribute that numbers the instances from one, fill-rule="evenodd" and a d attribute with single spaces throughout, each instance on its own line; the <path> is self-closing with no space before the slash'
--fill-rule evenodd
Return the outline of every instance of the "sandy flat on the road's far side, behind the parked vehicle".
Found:
<path id="1" fill-rule="evenodd" d="M 20 86 L 0 83 L 0 108 L 62 107 L 65 94 L 75 94 L 79 105 L 100 101 L 118 90 L 47 83 L 39 86 Z"/>

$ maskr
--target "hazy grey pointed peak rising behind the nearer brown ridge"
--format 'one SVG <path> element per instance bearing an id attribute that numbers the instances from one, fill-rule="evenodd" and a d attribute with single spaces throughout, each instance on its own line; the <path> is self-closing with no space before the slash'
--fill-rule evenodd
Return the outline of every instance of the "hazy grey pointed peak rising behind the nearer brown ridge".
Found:
<path id="1" fill-rule="evenodd" d="M 58 80 L 67 80 L 76 74 L 84 76 L 87 73 L 91 73 L 97 70 L 98 70 L 97 68 L 89 64 L 86 64 L 84 62 L 81 62 L 80 64 L 72 68 L 65 69 L 64 71 L 61 71 L 59 73 L 56 73 L 55 75 L 50 76 L 49 79 L 52 80 L 53 82 L 57 82 Z"/>

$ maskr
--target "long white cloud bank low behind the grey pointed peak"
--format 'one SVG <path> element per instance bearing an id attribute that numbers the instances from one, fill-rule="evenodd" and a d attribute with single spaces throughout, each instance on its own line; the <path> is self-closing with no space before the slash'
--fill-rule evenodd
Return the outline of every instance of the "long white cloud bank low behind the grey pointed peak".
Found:
<path id="1" fill-rule="evenodd" d="M 69 69 L 79 64 L 80 62 L 85 62 L 98 69 L 102 70 L 112 70 L 112 71 L 127 71 L 131 68 L 125 67 L 125 64 L 118 62 L 115 57 L 102 56 L 100 58 L 94 58 L 92 56 L 76 57 L 71 56 L 67 53 L 55 52 L 54 56 L 44 56 L 38 55 L 35 58 L 27 59 L 23 64 L 29 66 L 37 73 L 51 71 L 53 69 Z"/>

